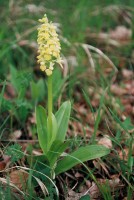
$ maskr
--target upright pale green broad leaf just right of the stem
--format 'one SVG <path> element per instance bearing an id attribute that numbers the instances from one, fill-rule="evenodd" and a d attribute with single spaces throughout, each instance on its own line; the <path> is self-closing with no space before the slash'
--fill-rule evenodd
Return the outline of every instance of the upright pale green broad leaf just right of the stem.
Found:
<path id="1" fill-rule="evenodd" d="M 64 142 L 65 140 L 70 112 L 71 112 L 71 103 L 70 101 L 66 101 L 61 105 L 61 107 L 55 114 L 58 123 L 56 139 L 62 142 Z"/>

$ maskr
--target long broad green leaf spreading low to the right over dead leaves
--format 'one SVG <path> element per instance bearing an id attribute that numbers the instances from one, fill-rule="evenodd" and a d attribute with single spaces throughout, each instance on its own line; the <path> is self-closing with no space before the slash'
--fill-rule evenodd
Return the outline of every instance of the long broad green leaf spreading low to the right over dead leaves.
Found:
<path id="1" fill-rule="evenodd" d="M 78 150 L 74 151 L 70 155 L 68 154 L 58 162 L 55 173 L 58 175 L 71 169 L 79 163 L 100 158 L 107 155 L 109 152 L 110 150 L 108 148 L 101 145 L 88 145 L 80 147 Z"/>

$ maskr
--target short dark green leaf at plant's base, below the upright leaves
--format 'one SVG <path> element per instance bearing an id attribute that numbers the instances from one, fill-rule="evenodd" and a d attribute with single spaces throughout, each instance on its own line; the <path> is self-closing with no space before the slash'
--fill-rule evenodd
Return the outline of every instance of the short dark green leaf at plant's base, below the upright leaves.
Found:
<path id="1" fill-rule="evenodd" d="M 58 157 L 67 149 L 70 141 L 62 143 L 61 141 L 55 140 L 47 153 L 47 158 L 50 162 L 50 166 L 53 167 Z"/>

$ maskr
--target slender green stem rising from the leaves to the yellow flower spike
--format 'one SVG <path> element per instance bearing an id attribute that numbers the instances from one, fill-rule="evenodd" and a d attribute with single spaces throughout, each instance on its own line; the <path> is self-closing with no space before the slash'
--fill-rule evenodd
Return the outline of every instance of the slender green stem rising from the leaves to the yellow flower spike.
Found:
<path id="1" fill-rule="evenodd" d="M 52 75 L 48 76 L 48 130 L 52 133 Z"/>

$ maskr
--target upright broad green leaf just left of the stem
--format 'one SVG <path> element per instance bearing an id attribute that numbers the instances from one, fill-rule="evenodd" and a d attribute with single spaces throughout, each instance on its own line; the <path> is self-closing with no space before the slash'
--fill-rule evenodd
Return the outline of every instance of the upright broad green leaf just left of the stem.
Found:
<path id="1" fill-rule="evenodd" d="M 47 115 L 42 106 L 36 107 L 36 122 L 39 144 L 43 153 L 46 154 L 48 150 Z"/>

